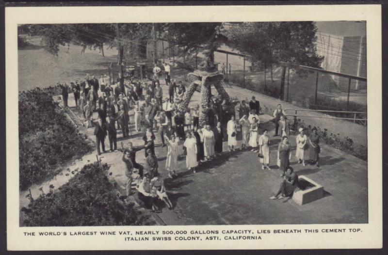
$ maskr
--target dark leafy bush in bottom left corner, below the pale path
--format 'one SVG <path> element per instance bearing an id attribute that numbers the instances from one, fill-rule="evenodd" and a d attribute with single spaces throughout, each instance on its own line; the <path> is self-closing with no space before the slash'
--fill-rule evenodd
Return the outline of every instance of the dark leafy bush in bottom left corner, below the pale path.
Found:
<path id="1" fill-rule="evenodd" d="M 27 226 L 149 225 L 148 216 L 117 195 L 108 175 L 108 165 L 83 166 L 58 191 L 43 193 L 23 207 Z M 54 188 L 54 187 L 51 187 Z"/>

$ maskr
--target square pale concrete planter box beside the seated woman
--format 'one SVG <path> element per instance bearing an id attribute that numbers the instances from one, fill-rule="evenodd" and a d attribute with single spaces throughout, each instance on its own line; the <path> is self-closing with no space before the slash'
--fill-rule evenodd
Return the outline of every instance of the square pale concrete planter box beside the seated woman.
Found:
<path id="1" fill-rule="evenodd" d="M 323 186 L 307 178 L 299 176 L 299 189 L 295 191 L 292 200 L 298 205 L 304 205 L 323 197 Z"/>

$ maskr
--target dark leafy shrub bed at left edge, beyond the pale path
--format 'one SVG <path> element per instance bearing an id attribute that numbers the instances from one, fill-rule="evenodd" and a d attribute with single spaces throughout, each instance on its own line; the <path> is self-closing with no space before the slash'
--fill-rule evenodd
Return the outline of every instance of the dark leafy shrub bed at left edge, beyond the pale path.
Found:
<path id="1" fill-rule="evenodd" d="M 60 163 L 91 150 L 85 136 L 59 111 L 54 88 L 19 93 L 19 187 L 55 175 Z"/>

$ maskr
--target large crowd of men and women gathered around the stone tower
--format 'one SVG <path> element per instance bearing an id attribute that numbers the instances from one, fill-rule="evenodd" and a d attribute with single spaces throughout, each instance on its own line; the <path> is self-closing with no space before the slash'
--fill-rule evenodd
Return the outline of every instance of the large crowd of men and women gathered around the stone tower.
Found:
<path id="1" fill-rule="evenodd" d="M 67 107 L 68 91 L 74 93 L 76 106 L 79 107 L 87 127 L 94 127 L 96 136 L 97 153 L 106 153 L 105 138 L 108 136 L 110 151 L 117 152 L 117 130 L 122 130 L 123 138 L 130 138 L 130 125 L 135 132 L 143 133 L 144 145 L 135 147 L 132 142 L 121 143 L 122 160 L 125 174 L 128 178 L 127 196 L 132 195 L 131 184 L 134 171 L 137 179 L 138 199 L 143 205 L 153 211 L 159 212 L 158 202 L 163 201 L 168 208 L 173 205 L 168 198 L 159 174 L 158 158 L 155 155 L 155 139 L 159 135 L 162 147 L 167 146 L 165 169 L 169 178 L 177 176 L 178 157 L 181 152 L 186 155 L 186 168 L 196 173 L 199 165 L 211 161 L 223 153 L 223 142 L 227 141 L 227 149 L 233 152 L 236 149 L 249 149 L 258 153 L 261 169 L 270 168 L 271 138 L 267 129 L 260 128 L 260 103 L 252 96 L 251 100 L 241 100 L 231 111 L 225 98 L 221 95 L 211 96 L 207 111 L 207 125 L 199 125 L 199 105 L 187 109 L 186 113 L 179 114 L 178 104 L 181 102 L 186 88 L 181 82 L 171 79 L 169 64 L 163 63 L 163 70 L 158 65 L 153 68 L 153 76 L 144 80 L 130 77 L 124 83 L 117 82 L 111 85 L 111 79 L 101 75 L 99 79 L 89 75 L 81 82 L 76 80 L 70 83 L 59 84 L 62 89 L 64 107 Z M 164 84 L 161 84 L 164 80 Z M 168 95 L 163 95 L 162 86 L 168 89 Z M 114 88 L 113 88 L 114 87 Z M 163 100 L 164 98 L 164 100 Z M 133 111 L 133 123 L 130 123 L 129 112 Z M 93 112 L 97 112 L 97 121 L 93 119 Z M 280 199 L 292 195 L 297 186 L 297 175 L 290 167 L 291 122 L 287 119 L 281 105 L 273 113 L 275 122 L 275 135 L 280 136 L 281 142 L 277 149 L 277 166 L 281 170 L 281 183 L 279 192 L 271 199 Z M 306 160 L 311 159 L 319 167 L 319 135 L 317 129 L 312 129 L 308 138 L 304 128 L 299 128 L 296 136 L 295 157 L 299 163 L 306 165 Z M 241 133 L 241 147 L 237 148 L 237 135 Z M 261 132 L 261 134 L 260 134 Z M 130 141 L 130 140 L 129 140 Z M 179 145 L 183 145 L 180 151 Z M 100 150 L 100 147 L 102 151 Z M 309 152 L 310 148 L 311 157 Z M 136 152 L 145 150 L 145 166 L 136 162 Z M 163 155 L 164 156 L 164 155 Z M 146 170 L 146 171 L 145 171 Z"/>

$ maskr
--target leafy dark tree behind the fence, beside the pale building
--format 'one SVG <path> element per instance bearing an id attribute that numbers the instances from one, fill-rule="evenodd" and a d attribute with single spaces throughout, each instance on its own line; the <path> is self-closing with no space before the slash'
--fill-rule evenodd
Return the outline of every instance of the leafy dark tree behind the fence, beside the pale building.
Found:
<path id="1" fill-rule="evenodd" d="M 300 64 L 320 67 L 323 57 L 316 53 L 317 28 L 314 22 L 245 22 L 229 23 L 227 44 L 252 56 L 253 62 Z M 281 91 L 283 98 L 286 75 L 283 65 Z"/>

